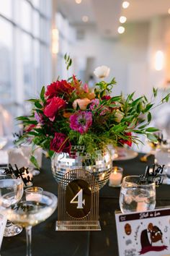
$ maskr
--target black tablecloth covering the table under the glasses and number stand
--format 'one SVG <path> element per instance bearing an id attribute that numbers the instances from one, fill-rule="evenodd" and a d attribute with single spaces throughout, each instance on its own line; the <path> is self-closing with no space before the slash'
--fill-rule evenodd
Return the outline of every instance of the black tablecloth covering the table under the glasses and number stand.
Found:
<path id="1" fill-rule="evenodd" d="M 128 161 L 116 161 L 122 166 L 123 176 L 141 174 L 146 163 L 140 162 L 140 156 Z M 147 164 L 153 163 L 153 157 Z M 34 185 L 57 195 L 57 183 L 50 171 L 50 160 L 44 158 L 42 171 L 35 176 Z M 156 189 L 156 206 L 170 205 L 169 185 Z M 32 228 L 32 256 L 117 256 L 117 234 L 115 228 L 115 210 L 119 207 L 120 188 L 106 184 L 100 190 L 99 221 L 102 231 L 55 231 L 57 210 L 43 223 Z M 4 237 L 1 256 L 26 255 L 25 232 L 11 238 Z"/>

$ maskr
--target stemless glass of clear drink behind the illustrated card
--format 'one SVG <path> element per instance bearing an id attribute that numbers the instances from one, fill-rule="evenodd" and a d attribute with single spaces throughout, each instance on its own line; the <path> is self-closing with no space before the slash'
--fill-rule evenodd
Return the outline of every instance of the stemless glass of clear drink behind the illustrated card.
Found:
<path id="1" fill-rule="evenodd" d="M 126 176 L 120 189 L 122 213 L 153 210 L 156 205 L 156 184 L 138 184 L 140 176 Z"/>

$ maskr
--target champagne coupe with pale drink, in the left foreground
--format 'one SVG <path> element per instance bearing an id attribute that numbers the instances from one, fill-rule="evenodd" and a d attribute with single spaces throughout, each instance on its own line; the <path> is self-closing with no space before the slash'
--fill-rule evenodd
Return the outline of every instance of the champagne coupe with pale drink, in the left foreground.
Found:
<path id="1" fill-rule="evenodd" d="M 45 221 L 57 208 L 58 199 L 50 192 L 44 191 L 40 197 L 31 197 L 31 200 L 23 198 L 20 202 L 12 205 L 7 210 L 7 218 L 14 223 L 18 223 L 26 230 L 27 256 L 31 256 L 32 226 Z"/>

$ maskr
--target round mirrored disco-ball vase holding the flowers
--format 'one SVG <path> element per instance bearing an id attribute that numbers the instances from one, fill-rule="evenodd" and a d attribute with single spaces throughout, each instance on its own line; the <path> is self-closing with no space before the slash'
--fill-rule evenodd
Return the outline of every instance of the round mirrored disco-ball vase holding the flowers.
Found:
<path id="1" fill-rule="evenodd" d="M 84 153 L 83 147 L 68 153 L 55 153 L 51 160 L 53 176 L 56 182 L 66 186 L 70 180 L 63 179 L 63 176 L 74 169 L 84 169 L 94 175 L 99 189 L 104 187 L 109 179 L 112 170 L 112 158 L 108 150 L 97 150 L 94 156 Z M 76 174 L 72 177 L 76 179 Z"/>

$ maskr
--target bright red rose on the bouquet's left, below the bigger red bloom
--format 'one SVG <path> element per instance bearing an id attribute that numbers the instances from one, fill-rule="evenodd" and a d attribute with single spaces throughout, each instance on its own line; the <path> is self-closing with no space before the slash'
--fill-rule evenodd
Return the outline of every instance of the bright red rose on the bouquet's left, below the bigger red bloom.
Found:
<path id="1" fill-rule="evenodd" d="M 55 114 L 58 110 L 65 108 L 66 101 L 59 97 L 53 97 L 47 101 L 47 105 L 44 108 L 45 116 L 48 116 L 50 121 L 54 121 Z"/>

